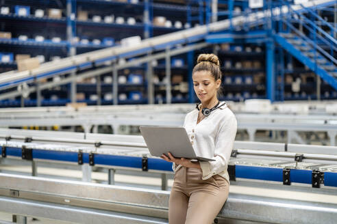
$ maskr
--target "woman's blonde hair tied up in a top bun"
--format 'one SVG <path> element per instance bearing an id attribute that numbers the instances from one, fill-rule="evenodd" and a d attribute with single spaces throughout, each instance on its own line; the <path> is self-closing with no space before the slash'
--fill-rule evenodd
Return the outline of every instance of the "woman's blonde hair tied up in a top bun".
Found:
<path id="1" fill-rule="evenodd" d="M 222 74 L 220 70 L 219 57 L 214 54 L 201 54 L 198 56 L 197 65 L 193 68 L 192 74 L 200 71 L 208 71 L 213 76 L 214 81 L 221 79 Z M 221 94 L 222 89 L 219 87 L 218 96 Z"/>

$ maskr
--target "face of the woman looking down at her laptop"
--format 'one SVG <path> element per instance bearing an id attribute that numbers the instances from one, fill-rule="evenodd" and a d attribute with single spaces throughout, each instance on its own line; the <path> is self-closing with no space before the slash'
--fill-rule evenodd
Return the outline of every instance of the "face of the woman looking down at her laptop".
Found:
<path id="1" fill-rule="evenodd" d="M 214 80 L 212 74 L 208 71 L 195 72 L 192 75 L 195 94 L 201 102 L 208 102 L 212 98 L 216 98 L 216 90 L 221 85 L 221 79 Z"/>

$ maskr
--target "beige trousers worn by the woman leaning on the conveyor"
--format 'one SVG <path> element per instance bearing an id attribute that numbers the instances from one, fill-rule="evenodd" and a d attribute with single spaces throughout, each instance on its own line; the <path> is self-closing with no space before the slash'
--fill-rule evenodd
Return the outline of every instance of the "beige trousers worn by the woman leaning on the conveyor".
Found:
<path id="1" fill-rule="evenodd" d="M 202 180 L 197 168 L 180 167 L 175 173 L 168 206 L 170 224 L 210 224 L 229 193 L 229 182 L 215 175 Z"/>

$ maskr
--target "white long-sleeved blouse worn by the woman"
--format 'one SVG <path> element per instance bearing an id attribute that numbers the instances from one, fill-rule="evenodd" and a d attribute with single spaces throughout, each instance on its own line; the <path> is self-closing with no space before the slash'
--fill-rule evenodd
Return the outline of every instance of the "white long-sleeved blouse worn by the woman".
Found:
<path id="1" fill-rule="evenodd" d="M 221 104 L 223 102 L 220 102 Z M 197 124 L 198 113 L 199 111 L 194 109 L 186 115 L 184 128 L 197 156 L 215 160 L 199 162 L 203 172 L 203 180 L 219 174 L 229 182 L 227 166 L 236 136 L 235 115 L 227 107 L 227 104 L 224 104 Z M 177 171 L 180 167 L 182 165 L 176 167 L 173 163 L 173 171 Z"/>

